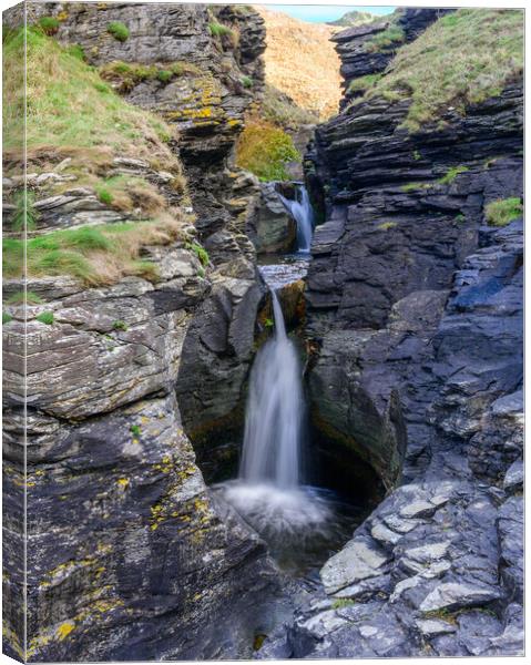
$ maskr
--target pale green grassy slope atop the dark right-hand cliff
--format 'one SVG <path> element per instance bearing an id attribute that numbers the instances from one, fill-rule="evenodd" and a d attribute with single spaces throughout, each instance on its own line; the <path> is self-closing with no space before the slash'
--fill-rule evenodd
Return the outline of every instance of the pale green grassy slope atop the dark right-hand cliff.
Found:
<path id="1" fill-rule="evenodd" d="M 523 12 L 459 9 L 402 47 L 368 96 L 410 99 L 402 126 L 418 131 L 450 105 L 464 113 L 522 74 Z"/>

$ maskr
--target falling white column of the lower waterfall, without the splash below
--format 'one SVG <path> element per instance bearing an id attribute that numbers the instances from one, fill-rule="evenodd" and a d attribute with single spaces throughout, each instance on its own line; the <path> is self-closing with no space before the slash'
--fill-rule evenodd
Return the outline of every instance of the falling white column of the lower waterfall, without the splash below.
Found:
<path id="1" fill-rule="evenodd" d="M 275 290 L 272 299 L 275 335 L 258 351 L 251 372 L 239 478 L 287 489 L 299 483 L 302 375 Z"/>

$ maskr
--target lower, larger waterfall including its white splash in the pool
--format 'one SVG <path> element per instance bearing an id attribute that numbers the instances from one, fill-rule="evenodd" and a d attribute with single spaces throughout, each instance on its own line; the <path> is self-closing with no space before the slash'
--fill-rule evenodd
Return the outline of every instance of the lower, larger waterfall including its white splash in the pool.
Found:
<path id="1" fill-rule="evenodd" d="M 272 300 L 275 334 L 251 372 L 238 478 L 217 489 L 264 536 L 278 563 L 299 574 L 321 563 L 323 552 L 346 534 L 326 491 L 302 484 L 302 367 L 275 290 Z"/>

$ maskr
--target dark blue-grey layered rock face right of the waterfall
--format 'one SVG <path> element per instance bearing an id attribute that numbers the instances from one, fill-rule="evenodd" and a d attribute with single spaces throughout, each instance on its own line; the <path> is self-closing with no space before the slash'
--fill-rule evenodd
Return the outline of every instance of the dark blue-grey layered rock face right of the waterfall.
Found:
<path id="1" fill-rule="evenodd" d="M 345 71 L 364 30 L 341 33 Z M 377 98 L 317 130 L 315 427 L 389 493 L 261 657 L 522 653 L 522 222 L 486 225 L 522 195 L 521 111 L 514 82 L 416 134 L 407 102 Z"/>

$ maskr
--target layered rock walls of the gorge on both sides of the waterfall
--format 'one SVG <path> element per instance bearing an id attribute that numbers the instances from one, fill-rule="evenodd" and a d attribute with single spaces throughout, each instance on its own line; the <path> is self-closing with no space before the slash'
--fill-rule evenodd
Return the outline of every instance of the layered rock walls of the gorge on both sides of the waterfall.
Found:
<path id="1" fill-rule="evenodd" d="M 317 217 L 307 275 L 278 293 L 320 482 L 358 488 L 366 519 L 308 583 L 210 488 L 235 473 L 249 370 L 269 334 L 258 264 L 296 236 L 277 196 L 294 186 L 235 162 L 263 94 L 263 20 L 244 6 L 27 11 L 30 24 L 54 18 L 53 40 L 79 45 L 112 94 L 175 127 L 177 161 L 113 147 L 98 177 L 149 184 L 120 209 L 68 153 L 30 154 L 30 249 L 58 231 L 145 224 L 147 194 L 172 222 L 141 227 L 155 275 L 4 278 L 6 653 L 520 654 L 523 234 L 521 213 L 490 219 L 492 204 L 523 194 L 521 73 L 410 131 L 411 99 L 372 94 L 366 76 L 385 82 L 446 12 L 400 11 L 400 39 L 378 51 L 364 44 L 389 22 L 334 37 L 346 94 L 304 155 Z M 4 22 L 16 29 L 20 11 Z M 368 94 L 353 85 L 361 78 Z M 6 158 L 16 239 L 9 195 L 24 181 L 17 154 Z"/>

